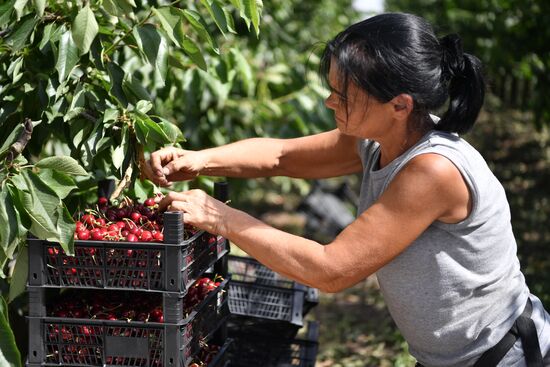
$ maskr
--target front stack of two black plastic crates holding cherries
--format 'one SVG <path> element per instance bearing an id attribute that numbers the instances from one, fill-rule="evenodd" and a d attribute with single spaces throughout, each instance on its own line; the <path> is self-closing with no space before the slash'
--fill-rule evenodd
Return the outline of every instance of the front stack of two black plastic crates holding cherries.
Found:
<path id="1" fill-rule="evenodd" d="M 28 239 L 28 366 L 188 367 L 208 343 L 220 346 L 208 366 L 228 364 L 227 242 L 204 231 L 185 238 L 180 212 L 164 213 L 163 221 L 163 243 L 76 240 L 75 256 L 65 255 L 58 243 Z M 214 274 L 224 280 L 188 310 L 187 291 Z M 61 289 L 76 300 L 90 292 L 101 294 L 98 299 L 113 292 L 119 298 L 132 299 L 136 292 L 157 297 L 163 320 L 55 315 L 50 301 Z"/>

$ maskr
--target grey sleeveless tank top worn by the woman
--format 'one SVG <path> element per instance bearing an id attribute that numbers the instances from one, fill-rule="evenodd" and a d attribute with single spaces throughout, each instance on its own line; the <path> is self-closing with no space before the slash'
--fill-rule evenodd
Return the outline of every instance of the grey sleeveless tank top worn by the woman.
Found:
<path id="1" fill-rule="evenodd" d="M 506 334 L 529 297 L 502 185 L 483 157 L 454 134 L 431 131 L 382 169 L 378 143 L 362 140 L 358 149 L 364 167 L 359 214 L 419 154 L 446 157 L 467 183 L 471 214 L 456 224 L 434 222 L 376 276 L 392 318 L 419 362 L 472 365 Z"/>

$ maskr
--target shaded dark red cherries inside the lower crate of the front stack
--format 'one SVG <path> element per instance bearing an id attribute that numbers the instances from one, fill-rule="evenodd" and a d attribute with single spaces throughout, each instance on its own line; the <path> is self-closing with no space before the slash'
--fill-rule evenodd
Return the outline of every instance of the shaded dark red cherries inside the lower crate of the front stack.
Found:
<path id="1" fill-rule="evenodd" d="M 184 298 L 184 313 L 188 315 L 214 291 L 223 281 L 220 276 L 214 279 L 203 277 L 189 288 Z M 80 292 L 78 297 L 67 292 L 57 299 L 48 310 L 53 317 L 124 320 L 141 322 L 164 322 L 162 298 L 160 294 L 125 292 Z"/>

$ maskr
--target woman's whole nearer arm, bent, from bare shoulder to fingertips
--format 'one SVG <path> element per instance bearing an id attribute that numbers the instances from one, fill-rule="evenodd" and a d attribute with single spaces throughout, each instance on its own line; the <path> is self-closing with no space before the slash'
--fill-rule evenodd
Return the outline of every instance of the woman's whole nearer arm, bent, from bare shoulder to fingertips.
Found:
<path id="1" fill-rule="evenodd" d="M 326 292 L 373 274 L 435 220 L 458 222 L 470 205 L 460 172 L 437 154 L 409 162 L 380 199 L 326 246 L 208 198 L 198 191 L 171 193 L 161 207 L 185 211 L 192 224 L 228 238 L 274 271 Z"/>

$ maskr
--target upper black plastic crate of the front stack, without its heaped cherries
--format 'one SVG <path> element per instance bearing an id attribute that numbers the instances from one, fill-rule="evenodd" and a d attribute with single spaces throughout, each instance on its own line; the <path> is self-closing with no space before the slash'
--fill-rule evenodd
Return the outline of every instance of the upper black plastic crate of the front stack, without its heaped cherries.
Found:
<path id="1" fill-rule="evenodd" d="M 185 239 L 182 218 L 164 214 L 164 243 L 76 240 L 75 256 L 29 238 L 29 284 L 185 293 L 227 247 L 204 231 Z"/>

